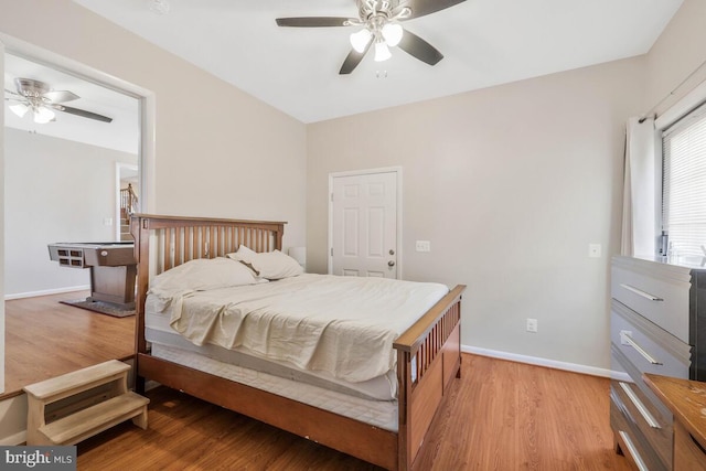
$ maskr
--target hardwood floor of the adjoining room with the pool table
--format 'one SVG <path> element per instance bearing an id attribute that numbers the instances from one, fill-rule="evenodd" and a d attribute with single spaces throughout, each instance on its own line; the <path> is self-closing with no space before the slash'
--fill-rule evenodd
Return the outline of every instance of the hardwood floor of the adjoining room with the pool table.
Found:
<path id="1" fill-rule="evenodd" d="M 87 291 L 9 300 L 4 303 L 6 392 L 135 352 L 135 315 L 113 318 L 60 303 Z"/>

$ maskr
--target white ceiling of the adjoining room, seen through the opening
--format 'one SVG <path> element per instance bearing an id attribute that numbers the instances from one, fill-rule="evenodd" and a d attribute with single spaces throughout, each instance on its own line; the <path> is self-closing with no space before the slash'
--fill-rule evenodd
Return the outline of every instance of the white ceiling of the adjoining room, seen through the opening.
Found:
<path id="1" fill-rule="evenodd" d="M 6 106 L 4 124 L 7 127 L 132 154 L 138 153 L 140 129 L 139 101 L 137 98 L 119 94 L 26 58 L 6 54 L 4 88 L 10 92 L 17 92 L 14 79 L 18 77 L 44 82 L 53 90 L 73 92 L 79 98 L 66 103 L 66 106 L 107 116 L 113 118 L 113 122 L 103 122 L 56 111 L 54 121 L 38 125 L 32 119 L 31 113 L 20 118 Z M 6 94 L 6 98 L 10 96 L 10 94 Z"/>

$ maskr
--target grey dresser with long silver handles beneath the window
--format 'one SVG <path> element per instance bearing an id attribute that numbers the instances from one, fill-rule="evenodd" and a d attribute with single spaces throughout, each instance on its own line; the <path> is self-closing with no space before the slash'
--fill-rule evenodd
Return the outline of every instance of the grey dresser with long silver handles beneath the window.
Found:
<path id="1" fill-rule="evenodd" d="M 673 416 L 644 374 L 706 379 L 706 270 L 633 257 L 611 266 L 610 424 L 639 470 L 672 470 Z"/>

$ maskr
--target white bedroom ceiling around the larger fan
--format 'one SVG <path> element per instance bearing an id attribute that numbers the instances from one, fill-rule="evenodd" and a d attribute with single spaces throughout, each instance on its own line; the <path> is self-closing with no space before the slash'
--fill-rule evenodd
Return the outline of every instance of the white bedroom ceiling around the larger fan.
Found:
<path id="1" fill-rule="evenodd" d="M 403 23 L 445 55 L 436 66 L 394 49 L 347 76 L 338 71 L 356 29 L 275 19 L 355 17 L 354 0 L 161 0 L 167 14 L 154 0 L 74 1 L 315 122 L 644 54 L 683 0 L 467 0 Z"/>

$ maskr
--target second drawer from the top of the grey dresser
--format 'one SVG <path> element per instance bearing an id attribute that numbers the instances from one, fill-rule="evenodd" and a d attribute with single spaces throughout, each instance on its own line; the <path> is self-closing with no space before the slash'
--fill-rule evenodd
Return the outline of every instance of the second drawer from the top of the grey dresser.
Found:
<path id="1" fill-rule="evenodd" d="M 688 378 L 691 346 L 614 299 L 610 338 L 640 374 Z"/>

